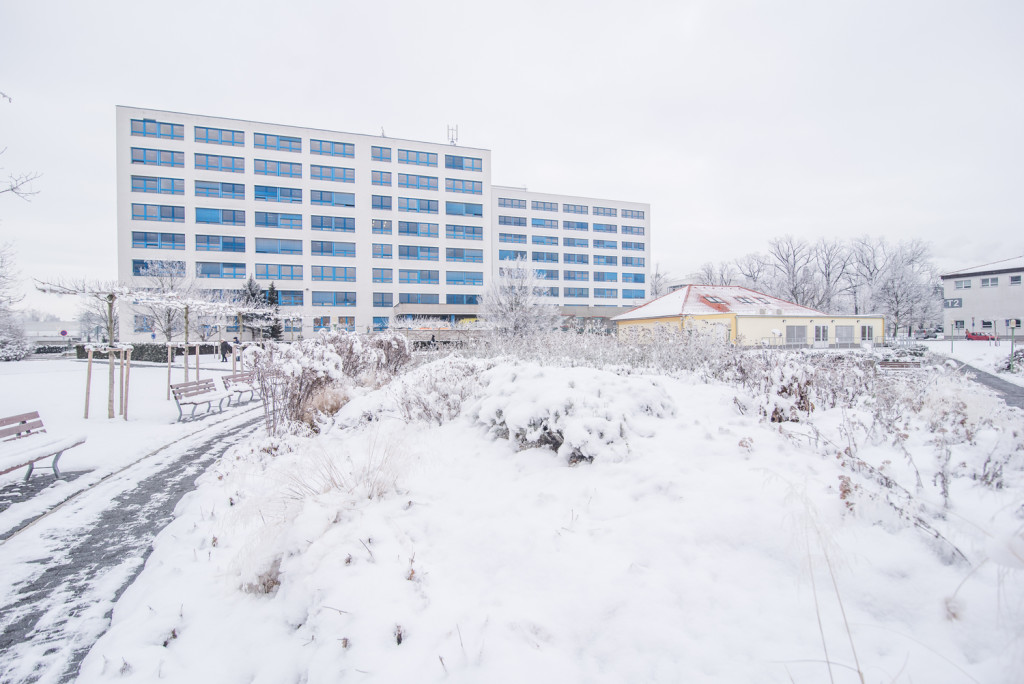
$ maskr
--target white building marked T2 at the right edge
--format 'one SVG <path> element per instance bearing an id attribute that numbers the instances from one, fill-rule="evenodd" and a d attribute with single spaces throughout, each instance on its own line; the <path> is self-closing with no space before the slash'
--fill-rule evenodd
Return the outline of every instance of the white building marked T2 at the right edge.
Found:
<path id="1" fill-rule="evenodd" d="M 942 275 L 946 335 L 1009 335 L 1024 319 L 1024 256 Z M 1017 334 L 1020 331 L 1015 330 Z"/>

